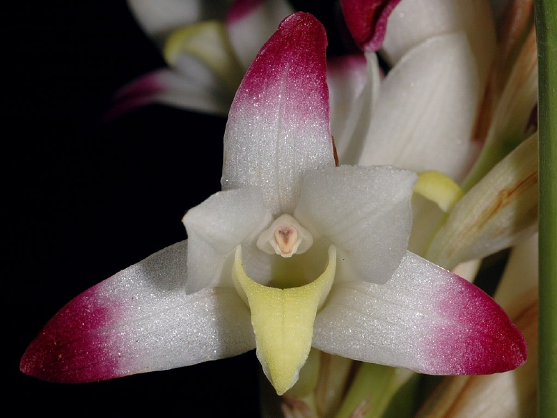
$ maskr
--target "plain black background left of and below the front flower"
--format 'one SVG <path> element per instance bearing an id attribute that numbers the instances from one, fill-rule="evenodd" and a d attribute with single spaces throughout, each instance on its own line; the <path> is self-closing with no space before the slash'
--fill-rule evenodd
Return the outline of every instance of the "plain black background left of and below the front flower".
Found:
<path id="1" fill-rule="evenodd" d="M 102 121 L 118 88 L 164 65 L 123 0 L 19 2 L 2 31 L 4 408 L 258 416 L 253 351 L 84 385 L 19 371 L 26 346 L 72 297 L 185 239 L 182 215 L 220 188 L 226 119 L 150 105 Z"/>

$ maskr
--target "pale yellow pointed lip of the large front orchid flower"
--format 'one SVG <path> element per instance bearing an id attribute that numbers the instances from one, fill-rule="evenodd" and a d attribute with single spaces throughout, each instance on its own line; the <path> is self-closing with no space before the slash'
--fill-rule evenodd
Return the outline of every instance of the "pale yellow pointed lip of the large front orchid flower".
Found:
<path id="1" fill-rule="evenodd" d="M 315 281 L 296 288 L 271 288 L 250 279 L 236 248 L 233 279 L 251 309 L 257 356 L 265 375 L 281 395 L 298 380 L 313 340 L 313 323 L 327 298 L 336 270 L 336 248 L 329 247 L 327 268 Z"/>

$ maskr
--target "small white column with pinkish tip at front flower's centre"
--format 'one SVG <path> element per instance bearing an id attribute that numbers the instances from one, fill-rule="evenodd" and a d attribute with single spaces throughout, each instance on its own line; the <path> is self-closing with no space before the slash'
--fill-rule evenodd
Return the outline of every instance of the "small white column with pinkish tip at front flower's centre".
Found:
<path id="1" fill-rule="evenodd" d="M 311 233 L 290 215 L 284 214 L 260 233 L 257 246 L 267 254 L 291 257 L 302 254 L 313 244 Z"/>

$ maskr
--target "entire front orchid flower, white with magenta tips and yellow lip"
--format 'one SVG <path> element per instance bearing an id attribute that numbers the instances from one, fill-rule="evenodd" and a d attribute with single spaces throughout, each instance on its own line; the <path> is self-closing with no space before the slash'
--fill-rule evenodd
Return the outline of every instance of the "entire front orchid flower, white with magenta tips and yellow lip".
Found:
<path id="1" fill-rule="evenodd" d="M 238 89 L 222 191 L 189 210 L 188 239 L 69 302 L 24 373 L 89 382 L 256 349 L 283 394 L 311 347 L 430 374 L 497 373 L 526 359 L 503 309 L 407 251 L 416 175 L 337 167 L 327 37 L 287 17 Z"/>

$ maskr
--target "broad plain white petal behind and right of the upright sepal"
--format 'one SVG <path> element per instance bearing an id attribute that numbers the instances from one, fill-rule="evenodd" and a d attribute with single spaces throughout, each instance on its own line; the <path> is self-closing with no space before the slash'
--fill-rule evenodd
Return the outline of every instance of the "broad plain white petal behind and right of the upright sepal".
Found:
<path id="1" fill-rule="evenodd" d="M 476 73 L 462 32 L 411 49 L 384 79 L 359 164 L 462 178 L 477 153 Z"/>

